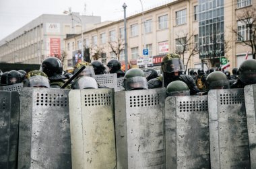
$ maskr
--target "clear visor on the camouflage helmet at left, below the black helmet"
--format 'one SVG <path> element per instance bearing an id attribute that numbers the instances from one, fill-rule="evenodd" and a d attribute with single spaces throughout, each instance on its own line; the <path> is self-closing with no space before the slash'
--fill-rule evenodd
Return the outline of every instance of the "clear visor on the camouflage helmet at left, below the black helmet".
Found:
<path id="1" fill-rule="evenodd" d="M 34 75 L 29 79 L 30 87 L 50 88 L 49 79 L 41 75 Z"/>

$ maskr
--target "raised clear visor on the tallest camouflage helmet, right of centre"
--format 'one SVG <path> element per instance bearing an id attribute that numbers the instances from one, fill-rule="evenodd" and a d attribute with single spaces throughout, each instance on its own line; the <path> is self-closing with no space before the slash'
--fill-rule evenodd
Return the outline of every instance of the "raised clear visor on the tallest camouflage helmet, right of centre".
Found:
<path id="1" fill-rule="evenodd" d="M 185 71 L 183 61 L 179 58 L 174 58 L 172 60 L 164 61 L 162 63 L 162 70 L 167 73 Z"/>

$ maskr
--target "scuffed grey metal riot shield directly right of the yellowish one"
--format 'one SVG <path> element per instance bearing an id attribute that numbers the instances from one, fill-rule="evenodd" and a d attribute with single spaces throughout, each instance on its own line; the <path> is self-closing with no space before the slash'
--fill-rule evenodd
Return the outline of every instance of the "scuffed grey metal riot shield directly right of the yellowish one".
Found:
<path id="1" fill-rule="evenodd" d="M 165 88 L 115 92 L 117 168 L 164 168 Z"/>

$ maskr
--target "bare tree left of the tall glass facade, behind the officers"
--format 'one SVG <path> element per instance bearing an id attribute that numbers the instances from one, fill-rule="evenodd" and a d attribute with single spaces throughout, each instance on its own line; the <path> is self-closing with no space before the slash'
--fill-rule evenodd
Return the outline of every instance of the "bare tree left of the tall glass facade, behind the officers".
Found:
<path id="1" fill-rule="evenodd" d="M 176 39 L 176 53 L 178 53 L 183 59 L 183 63 L 185 64 L 185 72 L 187 71 L 187 66 L 189 65 L 189 60 L 191 57 L 199 53 L 197 46 L 193 45 L 193 37 L 194 34 L 190 35 L 188 33 L 184 33 L 182 37 L 177 35 Z M 189 57 L 185 58 L 185 53 L 187 51 L 189 51 Z M 187 62 L 185 62 L 185 59 L 187 59 Z"/>

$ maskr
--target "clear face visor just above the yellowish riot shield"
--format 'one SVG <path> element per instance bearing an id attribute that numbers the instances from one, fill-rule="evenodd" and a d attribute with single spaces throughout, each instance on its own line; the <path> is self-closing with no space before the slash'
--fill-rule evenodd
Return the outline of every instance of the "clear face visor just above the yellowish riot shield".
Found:
<path id="1" fill-rule="evenodd" d="M 92 77 L 80 77 L 73 85 L 75 89 L 98 89 L 97 81 Z"/>

